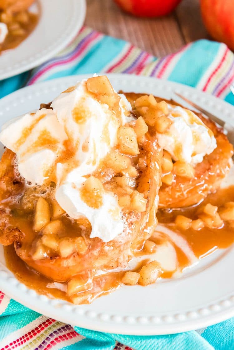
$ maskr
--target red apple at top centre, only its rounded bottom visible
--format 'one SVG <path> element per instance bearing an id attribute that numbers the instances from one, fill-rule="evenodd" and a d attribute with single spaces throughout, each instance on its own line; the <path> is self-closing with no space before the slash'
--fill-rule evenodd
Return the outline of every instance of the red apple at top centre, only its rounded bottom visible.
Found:
<path id="1" fill-rule="evenodd" d="M 170 13 L 181 0 L 115 0 L 126 12 L 141 17 L 156 17 Z"/>

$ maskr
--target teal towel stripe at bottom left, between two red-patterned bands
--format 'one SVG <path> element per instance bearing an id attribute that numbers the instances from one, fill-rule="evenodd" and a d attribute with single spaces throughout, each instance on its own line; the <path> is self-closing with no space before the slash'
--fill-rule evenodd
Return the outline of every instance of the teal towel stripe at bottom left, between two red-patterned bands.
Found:
<path id="1" fill-rule="evenodd" d="M 39 316 L 41 315 L 36 312 L 28 311 L 21 314 L 1 317 L 0 341 L 6 338 L 12 332 L 25 327 L 28 323 L 34 321 Z M 23 334 L 21 334 L 21 336 L 22 335 Z"/>

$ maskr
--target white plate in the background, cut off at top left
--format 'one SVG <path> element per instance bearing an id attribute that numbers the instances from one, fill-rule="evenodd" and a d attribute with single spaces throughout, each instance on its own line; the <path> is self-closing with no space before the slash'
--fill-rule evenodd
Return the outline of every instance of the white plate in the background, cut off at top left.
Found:
<path id="1" fill-rule="evenodd" d="M 62 50 L 85 19 L 85 0 L 36 0 L 41 16 L 35 30 L 18 47 L 0 55 L 0 80 L 25 72 Z"/>

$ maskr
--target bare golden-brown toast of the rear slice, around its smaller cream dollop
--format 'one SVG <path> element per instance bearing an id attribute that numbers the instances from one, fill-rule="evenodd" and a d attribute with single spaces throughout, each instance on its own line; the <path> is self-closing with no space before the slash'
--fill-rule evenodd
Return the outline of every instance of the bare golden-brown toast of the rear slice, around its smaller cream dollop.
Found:
<path id="1" fill-rule="evenodd" d="M 133 109 L 134 101 L 143 95 L 133 92 L 124 94 Z M 155 97 L 155 99 L 157 102 L 163 100 L 160 97 Z M 174 101 L 166 100 L 166 102 L 179 105 Z M 201 163 L 196 165 L 194 179 L 188 180 L 176 176 L 172 186 L 162 185 L 159 190 L 159 208 L 188 207 L 201 202 L 209 193 L 214 192 L 220 186 L 221 180 L 228 174 L 232 165 L 233 146 L 223 133 L 222 128 L 218 127 L 212 120 L 203 117 L 201 113 L 195 111 L 194 113 L 213 131 L 217 147 L 211 154 L 206 155 Z"/>

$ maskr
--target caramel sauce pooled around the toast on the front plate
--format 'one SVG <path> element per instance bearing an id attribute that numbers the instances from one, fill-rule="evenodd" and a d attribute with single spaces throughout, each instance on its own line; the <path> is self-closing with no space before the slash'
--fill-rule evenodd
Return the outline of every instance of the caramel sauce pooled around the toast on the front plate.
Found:
<path id="1" fill-rule="evenodd" d="M 192 229 L 188 230 L 178 230 L 174 224 L 174 219 L 177 215 L 185 215 L 189 218 L 196 219 L 195 213 L 198 211 L 199 207 L 205 205 L 206 203 L 211 203 L 213 205 L 222 205 L 226 202 L 234 201 L 234 186 L 230 186 L 225 189 L 218 190 L 215 194 L 210 194 L 204 202 L 201 204 L 186 208 L 186 209 L 175 209 L 175 210 L 160 210 L 157 214 L 159 223 L 163 224 L 166 228 L 169 228 L 171 231 L 177 233 L 180 237 L 185 239 L 193 251 L 194 255 L 201 259 L 207 254 L 217 250 L 218 248 L 227 248 L 234 242 L 234 232 L 233 228 L 225 223 L 221 229 L 208 229 L 204 228 L 199 231 L 194 231 Z M 25 220 L 15 219 L 18 223 L 19 228 L 24 231 L 27 230 L 27 240 L 24 241 L 24 244 L 30 246 L 35 237 L 35 233 L 32 230 L 32 225 L 30 221 L 27 223 Z M 66 226 L 69 225 L 68 219 L 64 218 L 63 224 Z M 12 222 L 14 224 L 14 222 Z M 27 225 L 27 227 L 25 226 Z M 70 224 L 71 225 L 71 224 Z M 69 230 L 66 229 L 66 233 L 61 233 L 62 235 L 72 234 L 71 228 L 72 225 L 69 225 Z M 24 227 L 23 227 L 24 226 Z M 31 234 L 30 234 L 31 232 Z M 77 228 L 74 230 L 74 235 L 77 236 Z M 172 240 L 164 235 L 163 233 L 155 232 L 150 238 L 158 246 L 162 245 L 169 241 L 172 243 Z M 161 278 L 172 278 L 173 274 L 176 271 L 182 272 L 183 268 L 191 265 L 191 261 L 185 252 L 173 243 L 175 252 L 177 266 L 174 271 L 162 271 Z M 54 281 L 42 276 L 40 273 L 36 272 L 33 268 L 28 267 L 28 265 L 21 260 L 18 255 L 15 253 L 14 246 L 6 246 L 5 250 L 5 259 L 6 264 L 9 270 L 11 270 L 16 278 L 27 285 L 29 288 L 35 289 L 40 294 L 45 294 L 49 297 L 54 297 L 58 299 L 64 299 L 71 301 L 69 296 L 66 294 L 66 283 L 60 283 L 59 285 L 53 284 Z M 134 271 L 139 271 L 140 268 L 147 262 L 144 259 L 145 253 L 143 250 L 135 251 L 135 257 L 142 257 L 142 260 L 135 266 Z M 73 302 L 79 303 L 90 303 L 96 297 L 110 293 L 111 291 L 117 289 L 121 285 L 121 279 L 125 271 L 120 272 L 107 272 L 103 275 L 95 276 L 93 278 L 93 287 L 90 290 L 86 290 L 82 293 L 76 294 Z M 59 288 L 56 288 L 59 287 Z M 62 289 L 62 290 L 60 290 Z"/>

